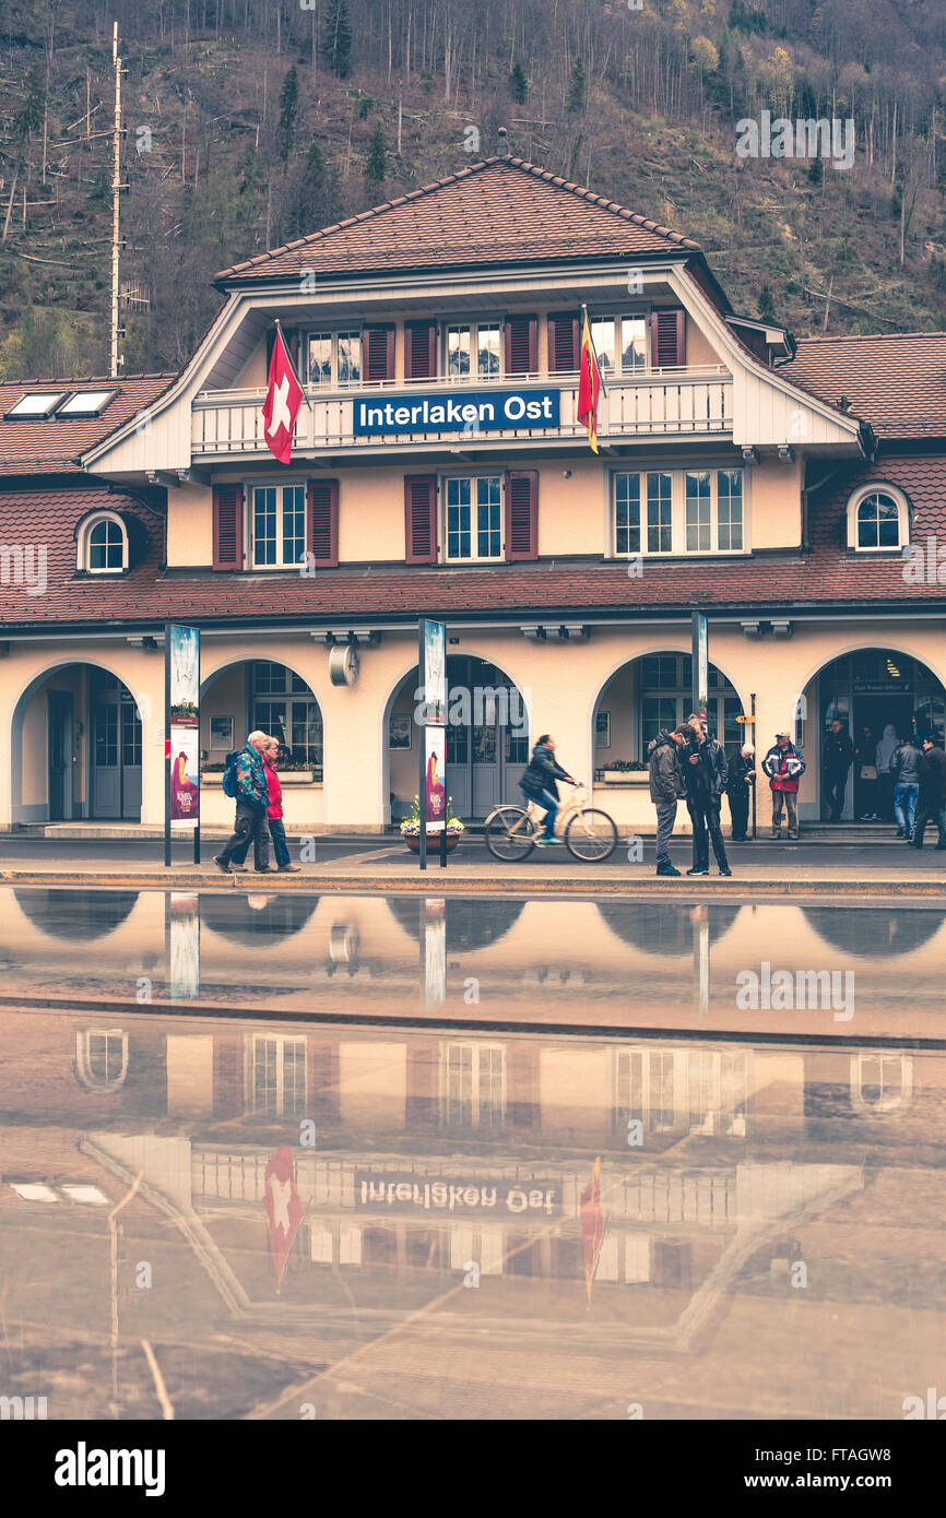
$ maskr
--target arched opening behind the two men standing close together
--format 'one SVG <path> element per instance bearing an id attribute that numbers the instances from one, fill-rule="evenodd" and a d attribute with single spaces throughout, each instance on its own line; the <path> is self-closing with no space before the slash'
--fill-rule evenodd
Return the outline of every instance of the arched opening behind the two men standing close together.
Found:
<path id="1" fill-rule="evenodd" d="M 667 650 L 629 659 L 601 686 L 594 713 L 595 771 L 647 764 L 647 745 L 662 727 L 673 729 L 692 709 L 692 657 Z M 744 742 L 736 723 L 743 703 L 721 669 L 709 665 L 708 721 L 714 738 L 732 753 Z"/>

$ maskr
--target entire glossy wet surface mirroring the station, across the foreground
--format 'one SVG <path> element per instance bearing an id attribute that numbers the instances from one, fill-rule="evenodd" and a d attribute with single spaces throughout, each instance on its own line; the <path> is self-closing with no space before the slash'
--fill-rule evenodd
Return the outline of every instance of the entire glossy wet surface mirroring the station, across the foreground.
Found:
<path id="1" fill-rule="evenodd" d="M 902 1419 L 946 1346 L 944 935 L 3 888 L 0 1395 Z"/>

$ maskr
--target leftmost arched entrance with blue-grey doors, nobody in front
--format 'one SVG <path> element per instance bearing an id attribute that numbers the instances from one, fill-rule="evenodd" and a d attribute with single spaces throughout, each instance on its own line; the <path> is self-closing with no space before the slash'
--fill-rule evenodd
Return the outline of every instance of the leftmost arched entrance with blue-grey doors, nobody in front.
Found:
<path id="1" fill-rule="evenodd" d="M 141 713 L 100 665 L 59 665 L 27 686 L 11 759 L 15 823 L 141 821 Z"/>

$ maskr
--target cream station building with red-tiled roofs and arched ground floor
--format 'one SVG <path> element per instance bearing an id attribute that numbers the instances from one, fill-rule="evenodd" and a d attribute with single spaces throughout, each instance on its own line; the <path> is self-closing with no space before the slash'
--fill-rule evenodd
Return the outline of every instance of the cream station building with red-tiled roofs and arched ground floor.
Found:
<path id="1" fill-rule="evenodd" d="M 0 386 L 2 829 L 162 823 L 167 621 L 202 633 L 211 824 L 254 727 L 292 754 L 292 827 L 404 815 L 418 616 L 446 622 L 465 820 L 518 798 L 551 732 L 650 826 L 692 610 L 711 726 L 729 751 L 794 733 L 802 820 L 826 815 L 834 715 L 943 730 L 946 334 L 796 342 L 683 232 L 515 158 L 216 284 L 181 373 Z M 287 466 L 261 417 L 276 320 L 307 402 Z"/>

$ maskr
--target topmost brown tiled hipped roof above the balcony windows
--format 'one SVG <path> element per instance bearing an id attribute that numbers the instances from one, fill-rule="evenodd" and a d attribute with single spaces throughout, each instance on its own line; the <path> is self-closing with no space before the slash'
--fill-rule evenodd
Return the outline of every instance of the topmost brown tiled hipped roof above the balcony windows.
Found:
<path id="1" fill-rule="evenodd" d="M 301 269 L 418 269 L 700 244 L 522 158 L 489 158 L 217 275 L 228 284 Z"/>

